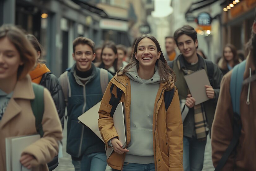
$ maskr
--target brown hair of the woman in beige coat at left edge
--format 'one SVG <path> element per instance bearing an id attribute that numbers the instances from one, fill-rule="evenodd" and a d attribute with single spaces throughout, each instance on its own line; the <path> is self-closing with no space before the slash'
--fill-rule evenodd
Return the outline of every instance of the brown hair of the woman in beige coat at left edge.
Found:
<path id="1" fill-rule="evenodd" d="M 24 63 L 18 68 L 18 80 L 23 79 L 33 68 L 36 62 L 36 50 L 25 34 L 13 25 L 2 25 L 0 27 L 0 39 L 7 37 L 20 53 L 20 60 Z"/>

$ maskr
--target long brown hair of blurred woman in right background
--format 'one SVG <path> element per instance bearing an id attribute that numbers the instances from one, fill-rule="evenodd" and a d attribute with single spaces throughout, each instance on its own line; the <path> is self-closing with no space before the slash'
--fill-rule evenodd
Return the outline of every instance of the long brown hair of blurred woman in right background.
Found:
<path id="1" fill-rule="evenodd" d="M 232 60 L 234 62 L 234 66 L 240 63 L 239 62 L 239 57 L 237 55 L 236 47 L 232 44 L 226 44 L 225 47 L 223 48 L 222 58 L 218 62 L 218 66 L 223 70 L 227 70 L 227 63 L 228 63 L 228 61 L 224 57 L 224 50 L 225 50 L 226 47 L 229 47 L 231 49 L 231 52 L 233 54 L 233 59 Z M 232 67 L 234 67 L 234 66 L 232 66 Z"/>

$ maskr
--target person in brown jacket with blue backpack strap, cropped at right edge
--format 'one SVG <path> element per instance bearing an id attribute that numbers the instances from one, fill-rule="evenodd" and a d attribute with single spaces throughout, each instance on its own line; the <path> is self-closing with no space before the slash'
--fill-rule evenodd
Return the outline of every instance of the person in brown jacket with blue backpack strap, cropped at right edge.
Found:
<path id="1" fill-rule="evenodd" d="M 256 10 L 255 10 L 256 12 Z M 215 170 L 256 170 L 256 13 L 249 54 L 222 79 L 212 126 Z"/>

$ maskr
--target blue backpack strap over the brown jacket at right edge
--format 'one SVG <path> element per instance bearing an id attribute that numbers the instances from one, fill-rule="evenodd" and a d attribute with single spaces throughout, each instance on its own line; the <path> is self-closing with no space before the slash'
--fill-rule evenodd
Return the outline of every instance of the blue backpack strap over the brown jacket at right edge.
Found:
<path id="1" fill-rule="evenodd" d="M 241 90 L 242 90 L 242 83 L 244 79 L 245 64 L 246 64 L 246 60 L 236 65 L 231 74 L 230 95 L 231 95 L 232 107 L 234 111 L 233 137 L 226 151 L 223 153 L 221 159 L 219 160 L 219 163 L 215 168 L 215 171 L 221 171 L 221 169 L 224 167 L 229 155 L 235 149 L 237 142 L 239 140 L 239 137 L 241 135 L 242 125 L 241 125 L 241 117 L 240 117 L 240 96 L 241 96 Z"/>

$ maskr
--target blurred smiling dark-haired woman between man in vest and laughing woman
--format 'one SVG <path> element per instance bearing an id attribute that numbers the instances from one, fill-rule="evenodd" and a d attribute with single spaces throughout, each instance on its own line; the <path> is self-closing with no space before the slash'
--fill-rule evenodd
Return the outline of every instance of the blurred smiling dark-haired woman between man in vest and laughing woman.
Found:
<path id="1" fill-rule="evenodd" d="M 108 70 L 114 76 L 117 72 L 117 58 L 116 45 L 112 42 L 104 44 L 101 52 L 102 63 L 99 68 Z"/>

